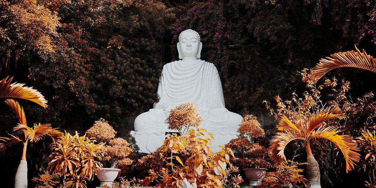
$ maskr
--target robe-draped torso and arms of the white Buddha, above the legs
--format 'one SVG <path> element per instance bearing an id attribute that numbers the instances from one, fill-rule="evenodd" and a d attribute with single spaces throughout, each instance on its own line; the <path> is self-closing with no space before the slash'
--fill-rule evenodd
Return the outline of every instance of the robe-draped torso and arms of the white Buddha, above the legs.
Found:
<path id="1" fill-rule="evenodd" d="M 159 78 L 160 100 L 154 109 L 170 111 L 181 103 L 193 102 L 199 110 L 225 108 L 223 90 L 214 64 L 196 61 L 174 61 L 165 64 Z"/>

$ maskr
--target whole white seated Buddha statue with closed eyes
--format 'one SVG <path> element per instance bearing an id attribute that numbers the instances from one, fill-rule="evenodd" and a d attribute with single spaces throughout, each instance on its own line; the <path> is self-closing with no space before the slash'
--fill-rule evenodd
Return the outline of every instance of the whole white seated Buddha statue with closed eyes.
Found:
<path id="1" fill-rule="evenodd" d="M 202 42 L 200 42 L 199 33 L 191 29 L 180 33 L 177 50 L 179 59 L 182 60 L 164 65 L 157 91 L 160 97 L 159 102 L 154 103 L 153 109 L 140 114 L 135 119 L 136 132 L 132 132 L 132 134 L 136 137 L 141 152 L 145 152 L 142 146 L 144 144 L 140 146 L 137 137 L 145 134 L 163 134 L 164 136 L 165 132 L 174 132 L 174 130 L 167 129 L 168 124 L 165 123 L 165 120 L 172 108 L 186 102 L 193 102 L 198 106 L 198 113 L 203 119 L 202 128 L 213 135 L 219 133 L 228 137 L 230 133 L 232 135 L 230 137 L 235 135 L 236 138 L 235 132 L 243 118 L 225 108 L 222 84 L 217 68 L 214 64 L 200 59 L 201 49 Z M 214 136 L 214 139 L 221 138 Z M 224 143 L 221 145 L 226 144 L 229 140 L 223 140 Z M 144 140 L 140 140 L 140 142 L 145 143 Z"/>

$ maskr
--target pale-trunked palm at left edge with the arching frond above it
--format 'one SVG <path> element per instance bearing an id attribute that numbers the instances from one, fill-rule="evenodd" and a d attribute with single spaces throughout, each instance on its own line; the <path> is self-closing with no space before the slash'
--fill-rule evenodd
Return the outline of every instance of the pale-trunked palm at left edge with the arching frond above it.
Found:
<path id="1" fill-rule="evenodd" d="M 20 98 L 30 100 L 37 103 L 38 105 L 47 107 L 47 101 L 44 96 L 36 89 L 32 87 L 26 87 L 23 83 L 12 83 L 12 78 L 5 78 L 0 80 L 0 97 L 5 98 Z M 27 187 L 27 162 L 26 162 L 26 148 L 27 142 L 36 142 L 42 138 L 44 135 L 50 135 L 54 142 L 59 141 L 62 136 L 61 132 L 53 129 L 51 124 L 34 124 L 33 127 L 29 127 L 26 124 L 26 116 L 23 108 L 13 99 L 5 100 L 6 104 L 15 112 L 20 123 L 13 128 L 15 135 L 10 135 L 10 138 L 0 137 L 0 151 L 4 149 L 5 146 L 22 141 L 24 143 L 22 157 L 20 165 L 18 166 L 16 177 L 15 177 L 15 188 L 25 188 Z M 17 135 L 24 135 L 21 139 Z"/>

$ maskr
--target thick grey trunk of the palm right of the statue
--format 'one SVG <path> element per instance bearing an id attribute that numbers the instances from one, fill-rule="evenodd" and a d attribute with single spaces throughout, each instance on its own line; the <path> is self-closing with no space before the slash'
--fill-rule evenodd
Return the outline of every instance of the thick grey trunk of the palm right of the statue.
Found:
<path id="1" fill-rule="evenodd" d="M 309 188 L 321 188 L 320 185 L 320 168 L 316 159 L 312 155 L 311 147 L 307 142 L 307 162 L 311 165 L 307 165 L 307 185 Z"/>

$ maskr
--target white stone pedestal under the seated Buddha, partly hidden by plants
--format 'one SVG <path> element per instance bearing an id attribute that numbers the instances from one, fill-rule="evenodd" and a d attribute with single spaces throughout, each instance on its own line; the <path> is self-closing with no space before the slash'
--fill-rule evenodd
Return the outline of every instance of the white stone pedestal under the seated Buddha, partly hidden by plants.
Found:
<path id="1" fill-rule="evenodd" d="M 141 153 L 153 153 L 156 151 L 158 147 L 161 147 L 164 140 L 165 140 L 165 133 L 166 132 L 143 132 L 143 131 L 131 131 L 130 134 L 135 137 L 137 146 L 139 147 L 139 152 Z M 212 140 L 209 136 L 209 139 L 212 140 L 211 148 L 213 152 L 219 152 L 221 150 L 220 147 L 217 146 L 224 146 L 231 139 L 238 138 L 238 134 L 235 131 L 232 132 L 210 132 L 214 140 Z"/>

